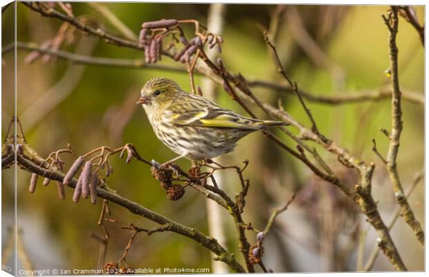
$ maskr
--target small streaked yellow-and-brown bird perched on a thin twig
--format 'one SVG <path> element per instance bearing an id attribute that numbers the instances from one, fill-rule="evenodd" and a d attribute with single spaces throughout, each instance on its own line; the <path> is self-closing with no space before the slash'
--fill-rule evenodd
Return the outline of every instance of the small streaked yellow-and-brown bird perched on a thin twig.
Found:
<path id="1" fill-rule="evenodd" d="M 234 150 L 239 139 L 260 129 L 288 123 L 246 118 L 202 96 L 183 91 L 166 78 L 153 78 L 141 90 L 141 104 L 154 132 L 179 157 L 211 159 Z"/>

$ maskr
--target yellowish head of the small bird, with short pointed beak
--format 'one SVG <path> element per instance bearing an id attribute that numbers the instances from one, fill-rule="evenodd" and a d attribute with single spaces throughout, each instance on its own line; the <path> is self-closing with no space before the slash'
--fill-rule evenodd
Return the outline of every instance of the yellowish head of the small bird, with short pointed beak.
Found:
<path id="1" fill-rule="evenodd" d="M 163 108 L 171 104 L 176 93 L 180 91 L 179 84 L 166 78 L 153 78 L 146 82 L 140 91 L 140 98 L 136 102 L 143 107 Z"/>

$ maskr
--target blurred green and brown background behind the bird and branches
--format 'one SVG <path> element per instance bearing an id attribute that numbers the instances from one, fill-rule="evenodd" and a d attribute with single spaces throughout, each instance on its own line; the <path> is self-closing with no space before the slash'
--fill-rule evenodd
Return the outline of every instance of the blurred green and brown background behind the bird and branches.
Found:
<path id="1" fill-rule="evenodd" d="M 161 18 L 197 19 L 206 24 L 209 4 L 103 3 L 134 33 L 138 34 L 144 21 Z M 106 30 L 120 35 L 118 30 L 88 3 L 71 3 L 75 15 L 104 24 Z M 10 6 L 2 16 L 4 48 L 14 41 L 14 12 Z M 249 80 L 284 83 L 277 73 L 271 51 L 264 43 L 262 30 L 269 30 L 277 46 L 282 64 L 301 89 L 315 95 L 343 96 L 348 93 L 374 92 L 389 85 L 388 32 L 381 15 L 387 6 L 273 6 L 233 5 L 225 7 L 222 53 L 227 68 L 240 72 Z M 423 20 L 424 8 L 415 7 Z M 423 23 L 423 22 L 421 22 Z M 42 44 L 57 33 L 62 22 L 41 17 L 21 3 L 17 4 L 17 40 Z M 191 27 L 191 26 L 190 26 Z M 302 28 L 306 30 L 303 34 Z M 192 28 L 187 30 L 192 33 Z M 306 48 L 308 37 L 315 42 L 320 55 Z M 423 96 L 424 48 L 417 32 L 403 17 L 400 18 L 399 78 L 406 93 Z M 142 59 L 142 51 L 118 47 L 86 35 L 75 33 L 64 51 L 95 57 Z M 215 51 L 215 50 L 214 50 Z M 316 52 L 317 52 L 316 51 Z M 119 69 L 115 67 L 82 66 L 64 60 L 45 62 L 43 58 L 28 63 L 30 51 L 17 51 L 17 115 L 30 145 L 46 157 L 50 152 L 70 143 L 78 154 L 101 145 L 113 148 L 134 143 L 147 159 L 166 161 L 174 153 L 156 139 L 141 107 L 134 103 L 140 87 L 156 76 L 172 78 L 185 90 L 190 90 L 188 73 L 172 73 L 154 69 Z M 320 54 L 319 53 L 319 54 Z M 317 54 L 317 53 L 316 53 Z M 2 139 L 6 136 L 13 111 L 13 52 L 2 54 Z M 27 60 L 26 60 L 27 59 Z M 164 58 L 161 64 L 175 64 Z M 183 69 L 185 69 L 183 67 Z M 202 77 L 196 76 L 201 84 Z M 284 91 L 255 87 L 257 96 L 277 105 L 282 99 L 284 109 L 309 126 L 298 100 Z M 217 102 L 243 115 L 246 112 L 216 87 Z M 390 129 L 390 101 L 359 102 L 347 105 L 326 105 L 307 101 L 325 136 L 358 154 L 365 161 L 374 161 L 374 198 L 378 201 L 385 222 L 389 222 L 396 207 L 392 186 L 381 161 L 372 152 L 372 139 L 385 154 L 388 141 L 378 130 Z M 423 170 L 423 110 L 419 103 L 403 101 L 403 133 L 398 157 L 399 172 L 405 190 L 415 175 Z M 259 116 L 264 117 L 262 112 Z M 290 139 L 279 134 L 286 143 Z M 319 150 L 332 168 L 347 180 L 356 182 L 351 170 L 343 168 L 336 157 Z M 294 190 L 300 189 L 288 211 L 278 217 L 273 233 L 267 238 L 264 262 L 273 271 L 356 271 L 359 238 L 364 248 L 364 261 L 376 244 L 376 234 L 356 211 L 356 206 L 330 184 L 314 177 L 308 168 L 273 145 L 262 134 L 255 133 L 240 141 L 237 150 L 222 157 L 224 163 L 240 164 L 249 159 L 245 177 L 250 179 L 248 206 L 244 220 L 263 229 L 273 208 L 282 206 Z M 70 165 L 71 159 L 64 157 Z M 149 167 L 132 161 L 111 159 L 114 169 L 107 182 L 120 195 L 153 209 L 172 220 L 210 233 L 206 199 L 194 190 L 187 190 L 177 202 L 165 197 Z M 189 161 L 179 161 L 184 168 Z M 13 173 L 2 175 L 3 254 L 12 240 Z M 239 191 L 234 172 L 226 172 L 223 188 L 233 195 Z M 100 243 L 93 234 L 104 233 L 98 226 L 101 199 L 77 204 L 71 201 L 73 191 L 66 189 L 64 201 L 57 198 L 55 184 L 42 187 L 39 181 L 34 194 L 28 193 L 30 173 L 17 170 L 17 227 L 19 230 L 20 269 L 93 269 L 97 267 Z M 423 185 L 419 184 L 410 197 L 417 219 L 423 220 Z M 123 224 L 156 226 L 149 220 L 132 215 L 124 208 L 111 204 L 111 217 Z M 221 211 L 219 226 L 225 234 L 225 246 L 241 256 L 237 235 L 228 213 Z M 111 238 L 105 262 L 118 260 L 129 240 L 129 231 L 107 224 Z M 365 235 L 366 234 L 366 235 Z M 251 241 L 253 234 L 249 233 Z M 392 229 L 393 240 L 411 270 L 423 270 L 423 249 L 410 228 L 399 219 Z M 362 240 L 363 241 L 363 240 Z M 10 260 L 12 262 L 12 260 Z M 3 260 L 3 264 L 7 262 Z M 210 253 L 199 244 L 174 233 L 145 233 L 137 235 L 129 250 L 127 263 L 132 267 L 192 267 L 214 270 Z M 393 270 L 383 254 L 373 270 Z"/>

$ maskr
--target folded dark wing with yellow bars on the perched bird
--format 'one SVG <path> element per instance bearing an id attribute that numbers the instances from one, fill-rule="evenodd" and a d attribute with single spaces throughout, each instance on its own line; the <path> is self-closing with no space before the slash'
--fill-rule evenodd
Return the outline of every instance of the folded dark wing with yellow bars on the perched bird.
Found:
<path id="1" fill-rule="evenodd" d="M 233 129 L 259 129 L 252 126 L 253 120 L 239 116 L 221 107 L 204 107 L 183 114 L 167 114 L 165 120 L 178 126 L 199 126 Z"/>

